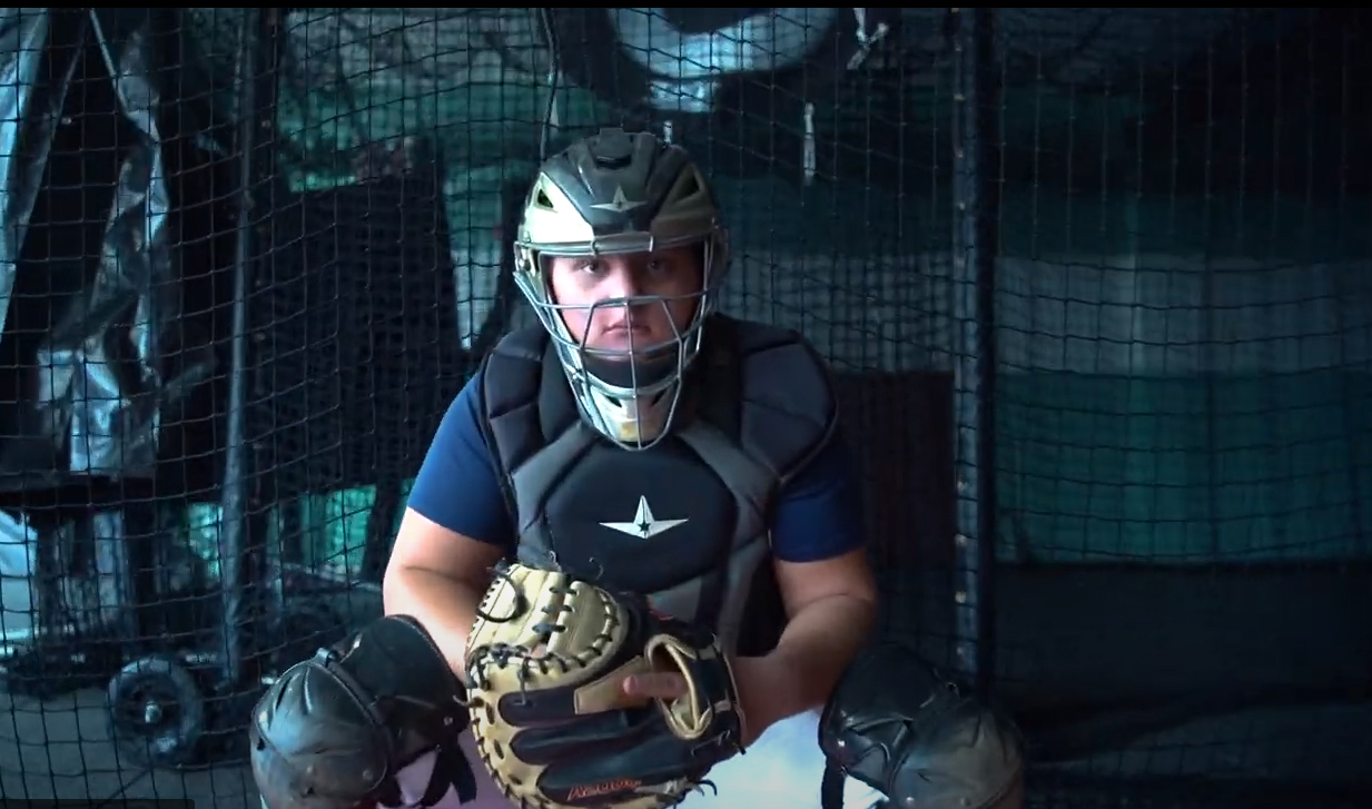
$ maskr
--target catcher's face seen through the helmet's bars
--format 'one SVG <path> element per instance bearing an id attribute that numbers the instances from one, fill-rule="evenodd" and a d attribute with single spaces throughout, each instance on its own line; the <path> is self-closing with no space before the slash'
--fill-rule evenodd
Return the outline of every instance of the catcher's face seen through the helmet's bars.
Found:
<path id="1" fill-rule="evenodd" d="M 656 252 L 549 256 L 554 303 L 563 324 L 584 348 L 624 351 L 671 341 L 700 306 L 704 284 L 698 245 Z M 664 302 L 601 306 L 602 300 L 660 296 Z M 624 355 L 627 358 L 627 354 Z"/>

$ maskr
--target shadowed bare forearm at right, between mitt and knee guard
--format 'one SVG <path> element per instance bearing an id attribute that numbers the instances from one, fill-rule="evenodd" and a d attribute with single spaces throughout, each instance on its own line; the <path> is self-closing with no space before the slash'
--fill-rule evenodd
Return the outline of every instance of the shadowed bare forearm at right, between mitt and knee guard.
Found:
<path id="1" fill-rule="evenodd" d="M 829 699 L 844 669 L 867 642 L 875 606 L 849 595 L 807 605 L 786 624 L 781 642 L 756 665 L 771 669 L 767 687 L 742 695 L 755 732 Z M 749 661 L 745 665 L 753 665 Z"/>

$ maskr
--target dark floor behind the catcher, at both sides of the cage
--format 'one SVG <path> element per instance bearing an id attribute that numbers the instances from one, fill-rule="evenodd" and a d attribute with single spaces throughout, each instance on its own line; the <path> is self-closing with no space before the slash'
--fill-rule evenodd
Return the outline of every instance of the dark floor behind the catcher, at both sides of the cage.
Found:
<path id="1" fill-rule="evenodd" d="M 947 581 L 945 575 L 908 581 L 888 602 L 892 629 L 919 638 L 934 660 L 947 647 L 952 603 Z M 1044 762 L 1045 771 L 1107 779 L 1203 775 L 1310 782 L 1364 787 L 1372 795 L 1367 766 L 1372 706 L 1365 690 L 1372 683 L 1372 579 L 1367 575 L 1015 570 L 1000 576 L 996 596 L 1002 690 L 1017 713 L 1032 717 L 1028 729 L 1044 757 L 1058 758 Z M 1362 690 L 1356 684 L 1360 677 Z M 1342 703 L 1314 705 L 1299 695 L 1287 705 L 1268 699 L 1264 708 L 1222 703 L 1227 694 L 1347 680 L 1354 681 L 1345 688 L 1351 698 Z M 48 702 L 0 694 L 0 797 L 97 805 L 121 797 L 185 797 L 200 809 L 257 809 L 241 766 L 148 772 L 121 761 L 108 738 L 103 699 L 95 690 Z M 1198 699 L 1211 716 L 1150 723 L 1158 710 L 1144 709 L 1139 721 L 1135 708 L 1132 714 L 1100 719 L 1106 703 L 1195 705 Z M 1095 706 L 1093 713 L 1074 724 L 1070 720 L 1083 706 Z M 1062 753 L 1073 747 L 1076 754 Z M 488 798 L 490 790 L 483 793 L 475 809 L 504 809 Z M 1120 805 L 1118 798 L 1033 804 Z M 1209 804 L 1220 805 L 1229 804 Z"/>

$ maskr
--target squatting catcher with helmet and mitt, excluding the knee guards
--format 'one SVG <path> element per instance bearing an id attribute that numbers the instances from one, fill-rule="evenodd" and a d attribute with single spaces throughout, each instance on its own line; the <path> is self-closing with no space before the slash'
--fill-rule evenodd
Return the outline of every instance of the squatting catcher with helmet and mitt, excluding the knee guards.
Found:
<path id="1" fill-rule="evenodd" d="M 819 709 L 875 623 L 860 474 L 814 346 L 720 311 L 724 219 L 686 149 L 612 128 L 509 222 L 488 280 L 538 322 L 453 399 L 383 580 L 469 677 L 483 794 L 819 806 Z"/>

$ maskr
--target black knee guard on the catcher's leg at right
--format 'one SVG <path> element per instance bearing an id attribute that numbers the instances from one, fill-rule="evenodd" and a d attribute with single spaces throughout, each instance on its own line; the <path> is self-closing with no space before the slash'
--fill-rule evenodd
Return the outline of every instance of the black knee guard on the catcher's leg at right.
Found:
<path id="1" fill-rule="evenodd" d="M 896 806 L 1008 809 L 1022 798 L 1015 727 L 903 646 L 877 646 L 849 666 L 819 720 L 819 746 L 830 772 Z"/>

